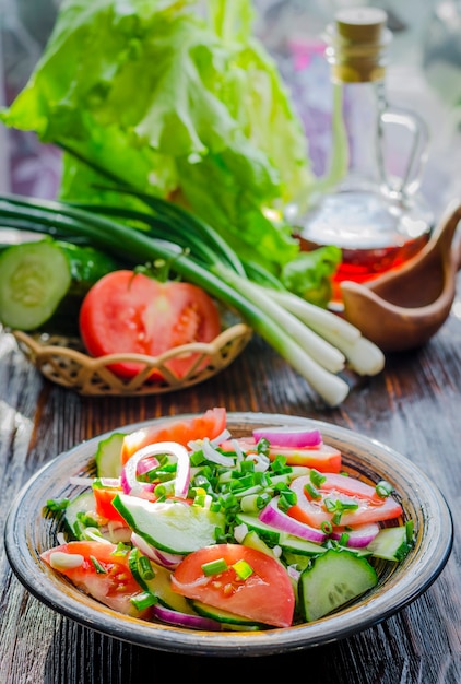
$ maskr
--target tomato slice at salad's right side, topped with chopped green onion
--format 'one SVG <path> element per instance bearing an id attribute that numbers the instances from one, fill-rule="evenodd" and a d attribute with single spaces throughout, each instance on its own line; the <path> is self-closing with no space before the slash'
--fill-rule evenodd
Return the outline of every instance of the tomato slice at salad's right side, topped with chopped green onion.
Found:
<path id="1" fill-rule="evenodd" d="M 342 527 L 355 527 L 368 522 L 381 522 L 392 520 L 402 515 L 401 505 L 391 496 L 380 498 L 375 487 L 360 482 L 355 477 L 338 475 L 336 473 L 323 473 L 326 480 L 317 486 L 319 498 L 312 498 L 305 490 L 305 485 L 310 483 L 308 475 L 296 477 L 289 485 L 296 493 L 297 503 L 286 511 L 288 516 L 306 522 L 314 528 L 320 528 L 323 522 L 333 524 L 334 511 L 329 511 L 327 505 L 333 504 L 356 505 L 355 509 L 344 508 L 341 512 L 340 522 Z M 326 499 L 328 499 L 326 502 Z"/>

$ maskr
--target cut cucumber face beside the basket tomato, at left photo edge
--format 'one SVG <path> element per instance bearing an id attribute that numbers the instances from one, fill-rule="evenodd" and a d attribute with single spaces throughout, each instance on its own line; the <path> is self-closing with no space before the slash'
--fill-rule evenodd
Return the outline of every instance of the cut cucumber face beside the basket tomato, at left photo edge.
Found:
<path id="1" fill-rule="evenodd" d="M 39 328 L 71 282 L 69 261 L 54 240 L 12 245 L 0 255 L 0 321 L 17 330 Z"/>

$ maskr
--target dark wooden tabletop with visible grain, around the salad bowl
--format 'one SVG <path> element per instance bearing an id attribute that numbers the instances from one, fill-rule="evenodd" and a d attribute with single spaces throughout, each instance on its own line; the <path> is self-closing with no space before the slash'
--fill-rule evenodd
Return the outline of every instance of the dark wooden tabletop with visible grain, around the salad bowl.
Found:
<path id="1" fill-rule="evenodd" d="M 388 356 L 338 409 L 260 339 L 220 376 L 185 391 L 145 398 L 83 398 L 44 380 L 13 338 L 0 334 L 0 523 L 21 486 L 59 452 L 150 417 L 228 411 L 288 413 L 359 431 L 423 468 L 461 515 L 460 306 L 418 351 Z M 258 682 L 458 684 L 461 682 L 461 543 L 433 586 L 397 615 L 352 638 L 286 656 L 189 657 L 131 646 L 79 626 L 32 598 L 0 546 L 0 684 Z M 250 670 L 248 670 L 250 668 Z M 249 674 L 250 673 L 250 674 Z M 146 679 L 147 677 L 147 679 Z M 285 679 L 286 677 L 286 679 Z M 166 680 L 168 681 L 168 680 Z M 210 681 L 210 680 L 209 680 Z"/>

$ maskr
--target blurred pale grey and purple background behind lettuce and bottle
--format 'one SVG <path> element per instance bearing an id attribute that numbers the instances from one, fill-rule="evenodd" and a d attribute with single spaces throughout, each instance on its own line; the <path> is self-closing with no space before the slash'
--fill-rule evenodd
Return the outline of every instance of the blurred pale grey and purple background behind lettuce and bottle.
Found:
<path id="1" fill-rule="evenodd" d="M 232 1 L 232 0 L 229 0 Z M 60 0 L 0 0 L 0 104 L 25 85 L 52 30 Z M 461 197 L 461 0 L 253 0 L 255 33 L 276 61 L 306 130 L 312 168 L 321 174 L 330 130 L 329 67 L 322 31 L 336 10 L 388 12 L 393 33 L 388 99 L 422 115 L 430 144 L 422 190 L 436 214 Z M 33 133 L 0 126 L 0 192 L 54 197 L 59 152 Z"/>

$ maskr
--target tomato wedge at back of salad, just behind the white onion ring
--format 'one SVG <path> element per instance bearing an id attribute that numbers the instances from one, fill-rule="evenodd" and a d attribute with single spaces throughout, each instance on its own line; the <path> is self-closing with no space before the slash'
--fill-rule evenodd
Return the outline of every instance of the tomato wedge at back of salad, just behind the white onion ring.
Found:
<path id="1" fill-rule="evenodd" d="M 222 408 L 209 409 L 193 418 L 170 421 L 164 425 L 152 425 L 126 435 L 121 446 L 121 463 L 126 463 L 139 449 L 157 441 L 177 441 L 187 447 L 189 441 L 214 439 L 226 428 L 227 414 Z"/>

